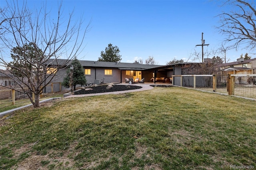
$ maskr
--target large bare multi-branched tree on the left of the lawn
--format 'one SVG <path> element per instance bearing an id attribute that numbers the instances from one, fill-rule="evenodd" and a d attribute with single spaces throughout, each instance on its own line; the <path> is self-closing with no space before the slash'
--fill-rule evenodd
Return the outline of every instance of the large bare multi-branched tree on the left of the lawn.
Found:
<path id="1" fill-rule="evenodd" d="M 83 42 L 90 22 L 84 26 L 84 20 L 74 21 L 74 11 L 64 17 L 62 2 L 56 9 L 56 18 L 50 16 L 46 4 L 36 11 L 30 11 L 26 2 L 22 5 L 19 1 L 6 2 L 6 10 L 0 13 L 0 67 L 10 71 L 5 75 L 15 85 L 1 86 L 25 93 L 33 106 L 39 107 L 39 97 L 44 87 L 84 49 Z M 13 49 L 18 50 L 16 62 L 22 64 L 8 62 L 8 51 Z M 59 63 L 59 57 L 66 60 Z M 4 74 L 4 71 L 1 73 Z M 34 100 L 31 93 L 34 93 Z"/>

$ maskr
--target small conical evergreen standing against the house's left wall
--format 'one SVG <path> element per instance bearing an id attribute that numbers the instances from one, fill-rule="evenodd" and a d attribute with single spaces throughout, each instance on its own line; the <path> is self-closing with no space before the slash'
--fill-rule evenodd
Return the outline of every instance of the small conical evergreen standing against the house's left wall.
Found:
<path id="1" fill-rule="evenodd" d="M 71 72 L 70 69 L 66 71 L 66 77 L 64 78 L 62 85 L 66 88 L 69 88 L 71 83 L 73 90 L 76 90 L 76 85 L 83 86 L 86 83 L 86 78 L 84 76 L 84 68 L 82 67 L 81 63 L 76 57 L 70 63 L 70 65 L 73 65 L 73 71 Z M 71 76 L 72 82 L 70 82 Z"/>

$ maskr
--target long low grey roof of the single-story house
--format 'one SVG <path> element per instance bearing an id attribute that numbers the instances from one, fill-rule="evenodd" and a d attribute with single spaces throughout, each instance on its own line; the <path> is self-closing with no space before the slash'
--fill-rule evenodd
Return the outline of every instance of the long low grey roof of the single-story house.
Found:
<path id="1" fill-rule="evenodd" d="M 118 69 L 148 69 L 154 67 L 160 67 L 163 65 L 148 65 L 148 64 L 140 64 L 140 63 L 121 63 L 121 62 L 107 62 L 107 61 L 86 61 L 79 60 L 83 67 L 110 67 L 110 68 L 118 68 Z M 70 65 L 72 62 L 67 59 L 49 59 L 48 61 L 51 65 L 57 65 L 57 63 L 65 63 L 66 65 Z"/>

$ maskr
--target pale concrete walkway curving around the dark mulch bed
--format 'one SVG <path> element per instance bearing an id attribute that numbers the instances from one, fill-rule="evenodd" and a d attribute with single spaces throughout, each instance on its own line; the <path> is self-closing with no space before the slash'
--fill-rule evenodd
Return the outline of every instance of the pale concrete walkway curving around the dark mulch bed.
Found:
<path id="1" fill-rule="evenodd" d="M 157 83 L 158 85 L 160 83 Z M 86 97 L 86 96 L 99 96 L 99 95 L 109 95 L 109 94 L 121 94 L 121 93 L 130 93 L 130 92 L 136 92 L 136 91 L 144 91 L 144 90 L 150 90 L 153 89 L 154 87 L 150 86 L 150 85 L 157 85 L 154 83 L 144 83 L 144 84 L 132 84 L 132 85 L 137 85 L 137 86 L 141 86 L 142 88 L 140 89 L 135 89 L 135 90 L 125 90 L 125 91 L 114 91 L 114 92 L 106 92 L 106 93 L 93 93 L 93 94 L 86 94 L 86 95 L 69 95 L 66 98 L 70 98 L 70 97 Z M 167 83 L 163 83 L 168 85 Z M 120 84 L 115 84 L 115 85 L 129 85 L 128 83 L 120 83 Z"/>

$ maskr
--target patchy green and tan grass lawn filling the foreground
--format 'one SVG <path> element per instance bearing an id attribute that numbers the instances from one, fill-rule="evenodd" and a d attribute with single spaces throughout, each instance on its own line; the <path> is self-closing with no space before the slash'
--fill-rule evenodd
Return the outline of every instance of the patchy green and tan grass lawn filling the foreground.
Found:
<path id="1" fill-rule="evenodd" d="M 182 87 L 54 101 L 0 118 L 0 169 L 255 168 L 255 104 Z"/>

